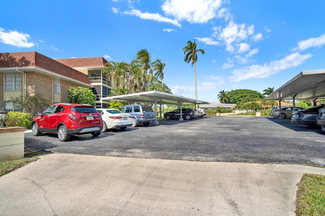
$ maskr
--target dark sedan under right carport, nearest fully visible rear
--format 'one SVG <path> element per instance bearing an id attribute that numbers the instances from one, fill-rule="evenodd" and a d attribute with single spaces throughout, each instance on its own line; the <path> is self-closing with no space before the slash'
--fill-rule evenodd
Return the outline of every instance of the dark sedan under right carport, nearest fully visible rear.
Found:
<path id="1" fill-rule="evenodd" d="M 319 114 L 319 110 L 322 109 L 325 105 L 313 106 L 308 109 L 295 111 L 293 112 L 293 117 L 291 118 L 291 122 L 300 123 L 308 125 L 309 127 L 316 126 L 316 118 Z"/>

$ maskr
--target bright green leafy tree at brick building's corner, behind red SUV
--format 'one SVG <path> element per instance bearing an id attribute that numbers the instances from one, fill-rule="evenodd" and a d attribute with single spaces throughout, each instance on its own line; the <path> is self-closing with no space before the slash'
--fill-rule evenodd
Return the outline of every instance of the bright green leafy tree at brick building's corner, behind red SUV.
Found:
<path id="1" fill-rule="evenodd" d="M 91 91 L 91 89 L 86 87 L 69 87 L 68 89 L 71 103 L 85 103 L 90 105 L 95 105 L 96 95 Z"/>

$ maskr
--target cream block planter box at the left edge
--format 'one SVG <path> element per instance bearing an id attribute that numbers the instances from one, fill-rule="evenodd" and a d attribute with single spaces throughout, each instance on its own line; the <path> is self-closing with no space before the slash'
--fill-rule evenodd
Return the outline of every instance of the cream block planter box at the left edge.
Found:
<path id="1" fill-rule="evenodd" d="M 25 127 L 0 128 L 0 162 L 24 157 Z"/>

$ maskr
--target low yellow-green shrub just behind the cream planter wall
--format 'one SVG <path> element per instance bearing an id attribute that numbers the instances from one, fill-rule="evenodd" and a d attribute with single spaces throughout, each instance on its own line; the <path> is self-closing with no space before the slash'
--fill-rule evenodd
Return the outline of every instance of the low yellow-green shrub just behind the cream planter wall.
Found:
<path id="1" fill-rule="evenodd" d="M 26 127 L 27 129 L 31 128 L 32 117 L 29 113 L 9 112 L 8 115 L 9 118 L 6 121 L 6 126 Z"/>

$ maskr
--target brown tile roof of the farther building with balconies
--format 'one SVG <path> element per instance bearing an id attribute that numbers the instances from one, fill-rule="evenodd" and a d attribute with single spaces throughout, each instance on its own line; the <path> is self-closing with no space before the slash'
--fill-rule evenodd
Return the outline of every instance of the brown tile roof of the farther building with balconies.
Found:
<path id="1" fill-rule="evenodd" d="M 92 58 L 60 58 L 54 59 L 69 67 L 104 67 L 108 61 L 103 57 Z"/>

